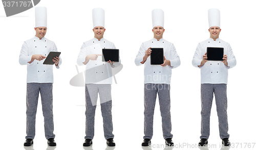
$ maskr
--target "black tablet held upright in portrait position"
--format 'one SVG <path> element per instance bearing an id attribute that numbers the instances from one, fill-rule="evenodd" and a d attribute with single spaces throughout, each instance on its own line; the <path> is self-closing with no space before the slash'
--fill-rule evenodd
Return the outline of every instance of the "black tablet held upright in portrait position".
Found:
<path id="1" fill-rule="evenodd" d="M 150 64 L 161 65 L 163 64 L 163 48 L 151 48 Z"/>

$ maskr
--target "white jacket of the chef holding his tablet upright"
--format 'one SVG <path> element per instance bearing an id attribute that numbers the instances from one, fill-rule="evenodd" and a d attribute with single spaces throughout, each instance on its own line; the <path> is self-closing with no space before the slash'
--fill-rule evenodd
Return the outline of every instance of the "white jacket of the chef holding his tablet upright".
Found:
<path id="1" fill-rule="evenodd" d="M 136 66 L 142 65 L 145 51 L 148 48 L 163 48 L 164 57 L 170 60 L 170 66 L 162 67 L 160 65 L 151 65 L 150 56 L 144 63 L 144 83 L 165 83 L 170 84 L 170 77 L 172 76 L 172 69 L 180 66 L 180 57 L 178 56 L 174 45 L 171 42 L 161 38 L 159 41 L 156 38 L 145 41 L 141 44 L 140 50 L 135 58 Z"/>

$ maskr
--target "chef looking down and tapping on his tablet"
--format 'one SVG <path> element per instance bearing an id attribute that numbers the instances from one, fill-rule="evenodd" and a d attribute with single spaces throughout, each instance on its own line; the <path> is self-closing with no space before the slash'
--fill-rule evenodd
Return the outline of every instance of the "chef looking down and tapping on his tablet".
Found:
<path id="1" fill-rule="evenodd" d="M 49 52 L 57 52 L 53 41 L 45 38 L 47 31 L 46 7 L 35 8 L 35 36 L 26 40 L 20 50 L 19 63 L 27 65 L 27 136 L 24 146 L 31 146 L 35 137 L 35 117 L 39 92 L 45 121 L 45 137 L 49 146 L 56 146 L 53 134 L 53 66 L 59 69 L 60 57 L 54 65 L 44 65 Z"/>

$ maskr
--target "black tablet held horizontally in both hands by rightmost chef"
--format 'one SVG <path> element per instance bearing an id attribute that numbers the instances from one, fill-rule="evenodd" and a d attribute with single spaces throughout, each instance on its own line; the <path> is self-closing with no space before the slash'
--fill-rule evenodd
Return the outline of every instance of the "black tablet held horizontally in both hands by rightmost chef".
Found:
<path id="1" fill-rule="evenodd" d="M 224 48 L 207 47 L 207 60 L 223 61 Z"/>

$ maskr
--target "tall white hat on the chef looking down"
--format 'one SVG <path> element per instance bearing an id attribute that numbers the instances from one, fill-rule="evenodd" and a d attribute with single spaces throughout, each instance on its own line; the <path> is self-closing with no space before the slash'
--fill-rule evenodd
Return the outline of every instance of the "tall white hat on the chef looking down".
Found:
<path id="1" fill-rule="evenodd" d="M 47 9 L 46 7 L 35 8 L 35 27 L 47 27 Z"/>

